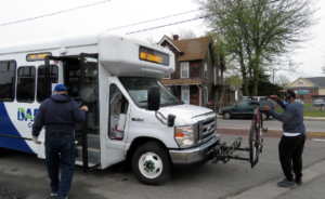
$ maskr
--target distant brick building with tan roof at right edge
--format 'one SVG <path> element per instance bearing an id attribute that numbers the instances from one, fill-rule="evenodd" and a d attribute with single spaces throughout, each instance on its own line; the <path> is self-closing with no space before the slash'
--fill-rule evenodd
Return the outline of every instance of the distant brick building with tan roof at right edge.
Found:
<path id="1" fill-rule="evenodd" d="M 285 90 L 288 89 L 292 90 L 297 98 L 301 98 L 304 103 L 325 98 L 325 77 L 301 77 L 285 87 Z"/>

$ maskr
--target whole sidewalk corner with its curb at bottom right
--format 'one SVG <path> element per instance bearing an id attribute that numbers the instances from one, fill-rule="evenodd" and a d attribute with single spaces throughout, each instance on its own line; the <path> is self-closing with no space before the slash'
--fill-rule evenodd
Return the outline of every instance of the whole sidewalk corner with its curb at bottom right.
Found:
<path id="1" fill-rule="evenodd" d="M 324 198 L 325 189 L 325 160 L 314 163 L 302 170 L 302 185 L 291 188 L 278 187 L 277 182 L 284 176 L 265 182 L 262 185 L 243 190 L 236 196 L 227 197 L 227 199 L 294 199 L 294 198 Z"/>

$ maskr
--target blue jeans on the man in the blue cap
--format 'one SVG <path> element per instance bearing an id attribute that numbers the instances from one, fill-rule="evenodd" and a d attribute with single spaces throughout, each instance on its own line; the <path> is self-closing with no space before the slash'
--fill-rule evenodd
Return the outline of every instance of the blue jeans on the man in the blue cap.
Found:
<path id="1" fill-rule="evenodd" d="M 75 171 L 75 137 L 70 134 L 46 135 L 47 170 L 52 193 L 65 198 L 70 190 Z M 58 167 L 62 167 L 61 182 Z"/>

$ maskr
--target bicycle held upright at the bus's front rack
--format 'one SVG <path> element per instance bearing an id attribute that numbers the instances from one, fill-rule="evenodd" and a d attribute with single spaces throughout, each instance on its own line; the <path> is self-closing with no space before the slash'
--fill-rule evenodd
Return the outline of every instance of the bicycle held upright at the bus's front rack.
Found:
<path id="1" fill-rule="evenodd" d="M 269 96 L 250 96 L 250 106 L 253 106 L 253 117 L 250 124 L 250 133 L 248 137 L 249 143 L 249 162 L 253 168 L 259 161 L 259 154 L 263 150 L 263 132 L 266 133 L 268 129 L 263 128 L 262 115 L 260 112 L 260 98 L 271 98 Z"/>

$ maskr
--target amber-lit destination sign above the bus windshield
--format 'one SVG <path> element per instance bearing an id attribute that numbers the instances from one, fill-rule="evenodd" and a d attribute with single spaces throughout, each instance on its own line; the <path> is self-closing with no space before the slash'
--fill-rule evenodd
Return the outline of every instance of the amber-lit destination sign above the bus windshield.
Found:
<path id="1" fill-rule="evenodd" d="M 153 62 L 165 66 L 169 65 L 169 55 L 154 51 L 144 47 L 140 47 L 139 57 L 142 61 Z"/>

